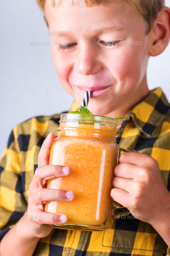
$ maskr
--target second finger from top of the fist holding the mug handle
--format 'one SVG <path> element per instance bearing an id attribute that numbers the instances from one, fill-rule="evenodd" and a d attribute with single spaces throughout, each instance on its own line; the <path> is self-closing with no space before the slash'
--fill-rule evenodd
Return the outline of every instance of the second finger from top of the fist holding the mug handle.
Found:
<path id="1" fill-rule="evenodd" d="M 114 176 L 134 179 L 138 167 L 130 163 L 119 163 L 114 167 Z"/>

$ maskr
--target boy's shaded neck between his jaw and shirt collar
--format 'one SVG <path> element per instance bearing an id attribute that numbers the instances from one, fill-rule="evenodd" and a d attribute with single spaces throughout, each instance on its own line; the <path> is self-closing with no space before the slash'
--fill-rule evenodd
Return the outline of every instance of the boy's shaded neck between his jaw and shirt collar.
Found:
<path id="1" fill-rule="evenodd" d="M 131 111 L 133 107 L 135 107 L 139 102 L 141 102 L 149 94 L 150 94 L 150 91 L 148 89 L 148 84 L 147 84 L 146 74 L 145 74 L 145 76 L 144 76 L 141 84 L 137 88 L 137 90 L 134 91 L 131 94 L 131 96 L 121 106 L 119 106 L 117 109 L 113 110 L 114 117 L 126 116 L 127 113 L 129 113 L 129 111 Z M 105 116 L 113 118 L 112 113 L 109 113 Z M 122 122 L 122 120 L 118 120 L 118 124 L 120 124 L 121 122 Z"/>

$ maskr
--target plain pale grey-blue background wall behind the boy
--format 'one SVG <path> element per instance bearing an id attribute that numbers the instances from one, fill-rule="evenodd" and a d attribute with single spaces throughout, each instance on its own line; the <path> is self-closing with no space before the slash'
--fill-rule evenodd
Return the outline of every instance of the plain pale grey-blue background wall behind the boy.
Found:
<path id="1" fill-rule="evenodd" d="M 0 154 L 12 128 L 38 115 L 69 110 L 73 97 L 61 86 L 48 42 L 48 28 L 35 0 L 2 0 L 0 64 Z M 166 0 L 170 7 L 170 0 Z M 149 89 L 161 87 L 170 101 L 170 44 L 147 69 Z M 41 89 L 40 89 L 41 88 Z"/>

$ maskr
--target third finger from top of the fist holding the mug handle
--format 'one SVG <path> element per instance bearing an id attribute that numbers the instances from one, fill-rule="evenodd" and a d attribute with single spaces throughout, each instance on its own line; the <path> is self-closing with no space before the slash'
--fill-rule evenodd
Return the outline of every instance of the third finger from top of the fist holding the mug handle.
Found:
<path id="1" fill-rule="evenodd" d="M 112 185 L 114 188 L 124 189 L 127 192 L 130 192 L 133 190 L 134 182 L 132 179 L 114 177 Z"/>

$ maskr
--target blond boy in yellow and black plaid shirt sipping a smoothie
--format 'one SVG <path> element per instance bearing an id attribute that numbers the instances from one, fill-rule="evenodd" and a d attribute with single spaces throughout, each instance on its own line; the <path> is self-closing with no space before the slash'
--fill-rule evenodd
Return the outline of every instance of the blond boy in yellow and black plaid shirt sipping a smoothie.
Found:
<path id="1" fill-rule="evenodd" d="M 32 218 L 47 214 L 46 201 L 75 195 L 46 189 L 48 178 L 68 176 L 71 169 L 48 165 L 57 132 L 35 131 L 49 124 L 57 130 L 60 115 L 29 119 L 14 128 L 1 160 L 0 254 L 169 255 L 170 104 L 160 88 L 149 91 L 146 81 L 149 55 L 161 54 L 169 43 L 169 8 L 163 0 L 38 3 L 56 43 L 51 52 L 58 77 L 78 102 L 72 110 L 89 89 L 93 114 L 127 115 L 117 142 L 139 152 L 120 156 L 111 196 L 131 215 L 99 232 L 53 229 L 49 224 L 67 221 L 64 214 Z M 135 132 L 127 132 L 132 128 Z"/>

